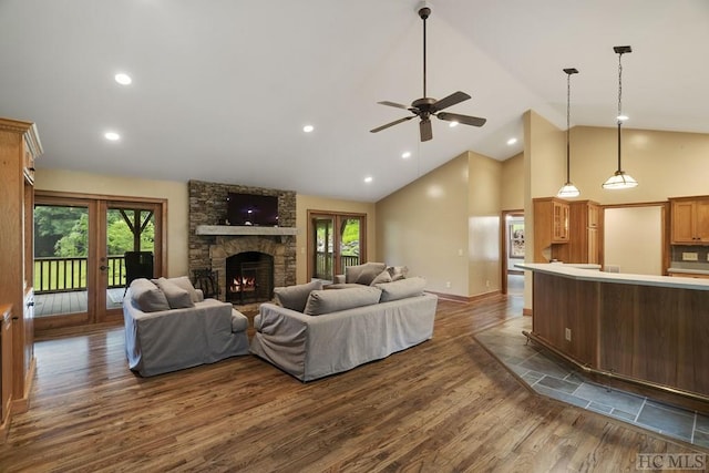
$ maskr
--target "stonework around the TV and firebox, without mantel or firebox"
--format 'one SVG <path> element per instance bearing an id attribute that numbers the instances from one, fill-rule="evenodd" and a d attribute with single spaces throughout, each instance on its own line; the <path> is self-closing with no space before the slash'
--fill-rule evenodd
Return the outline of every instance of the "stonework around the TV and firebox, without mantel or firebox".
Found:
<path id="1" fill-rule="evenodd" d="M 213 269 L 219 273 L 219 299 L 226 288 L 225 260 L 243 251 L 266 253 L 274 257 L 274 285 L 296 284 L 295 236 L 212 236 L 197 235 L 198 225 L 219 225 L 226 218 L 228 193 L 278 196 L 278 222 L 281 227 L 296 226 L 296 193 L 233 184 L 189 181 L 189 274 L 194 269 Z"/>

